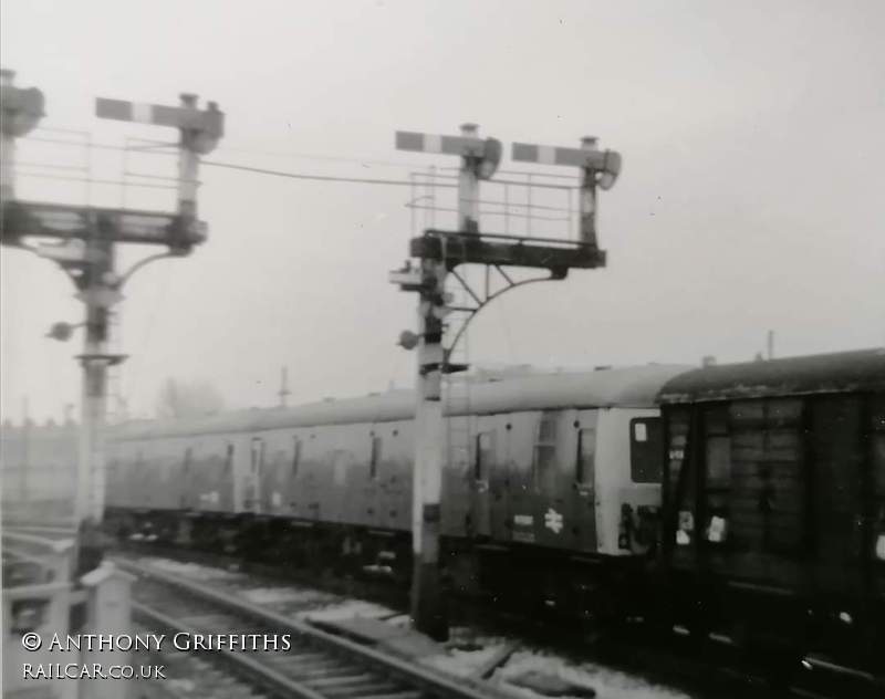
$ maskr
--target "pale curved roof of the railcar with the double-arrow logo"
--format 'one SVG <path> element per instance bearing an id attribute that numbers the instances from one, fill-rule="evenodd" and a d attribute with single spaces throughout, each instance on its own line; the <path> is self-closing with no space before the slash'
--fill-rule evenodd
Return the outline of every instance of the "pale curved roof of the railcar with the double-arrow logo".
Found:
<path id="1" fill-rule="evenodd" d="M 650 364 L 596 372 L 528 374 L 501 380 L 471 380 L 468 389 L 469 413 L 488 415 L 554 408 L 653 407 L 664 383 L 688 368 L 685 365 Z M 454 415 L 464 415 L 466 411 L 456 410 Z M 179 420 L 133 421 L 116 427 L 113 438 L 259 432 L 320 425 L 388 422 L 408 420 L 414 416 L 415 394 L 400 389 L 360 398 L 326 399 L 292 408 L 237 410 Z"/>

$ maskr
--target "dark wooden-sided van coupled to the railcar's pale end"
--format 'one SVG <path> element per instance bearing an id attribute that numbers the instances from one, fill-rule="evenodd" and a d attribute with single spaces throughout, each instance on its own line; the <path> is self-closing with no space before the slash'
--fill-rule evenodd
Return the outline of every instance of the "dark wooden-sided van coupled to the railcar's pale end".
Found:
<path id="1" fill-rule="evenodd" d="M 881 671 L 885 348 L 696 369 L 660 405 L 670 620 Z"/>

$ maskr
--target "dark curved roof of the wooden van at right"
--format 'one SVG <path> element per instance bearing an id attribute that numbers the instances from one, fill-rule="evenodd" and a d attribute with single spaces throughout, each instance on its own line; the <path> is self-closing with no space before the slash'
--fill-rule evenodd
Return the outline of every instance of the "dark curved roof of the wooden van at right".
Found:
<path id="1" fill-rule="evenodd" d="M 885 347 L 875 347 L 695 369 L 669 380 L 659 403 L 883 389 Z"/>

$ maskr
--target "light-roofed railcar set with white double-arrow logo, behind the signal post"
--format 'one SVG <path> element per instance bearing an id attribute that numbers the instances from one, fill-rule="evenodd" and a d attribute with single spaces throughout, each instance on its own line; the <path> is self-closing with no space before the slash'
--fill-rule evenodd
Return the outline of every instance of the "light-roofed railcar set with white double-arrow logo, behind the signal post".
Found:
<path id="1" fill-rule="evenodd" d="M 454 382 L 442 445 L 450 584 L 592 612 L 612 587 L 603 578 L 627 580 L 658 536 L 654 400 L 685 371 Z M 414 394 L 394 390 L 117 428 L 108 519 L 137 536 L 407 577 L 414 413 Z"/>

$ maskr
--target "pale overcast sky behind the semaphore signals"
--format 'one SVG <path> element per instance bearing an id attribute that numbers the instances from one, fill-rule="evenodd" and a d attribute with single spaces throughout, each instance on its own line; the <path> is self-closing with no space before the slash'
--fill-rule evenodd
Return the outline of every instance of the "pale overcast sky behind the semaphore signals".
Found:
<path id="1" fill-rule="evenodd" d="M 95 96 L 195 92 L 227 114 L 209 159 L 287 171 L 406 179 L 456 163 L 397 153 L 394 131 L 465 121 L 504 143 L 593 134 L 620 150 L 623 176 L 601 195 L 608 267 L 496 302 L 469 334 L 471 362 L 742 361 L 769 328 L 781 356 L 885 344 L 879 0 L 4 0 L 1 19 L 2 64 L 43 91 L 43 124 L 96 143 L 171 134 L 100 122 Z M 115 177 L 107 153 L 95 177 Z M 408 188 L 214 167 L 201 179 L 209 242 L 125 290 L 135 413 L 153 414 L 169 376 L 211 382 L 230 407 L 273 405 L 281 366 L 294 403 L 410 383 L 415 355 L 394 343 L 415 328 L 416 299 L 387 281 L 407 253 Z M 18 192 L 85 196 L 24 175 Z M 90 197 L 124 201 L 100 186 Z M 51 262 L 3 249 L 3 417 L 20 419 L 24 397 L 41 421 L 77 401 L 80 338 L 43 337 L 81 319 L 72 293 Z"/>

